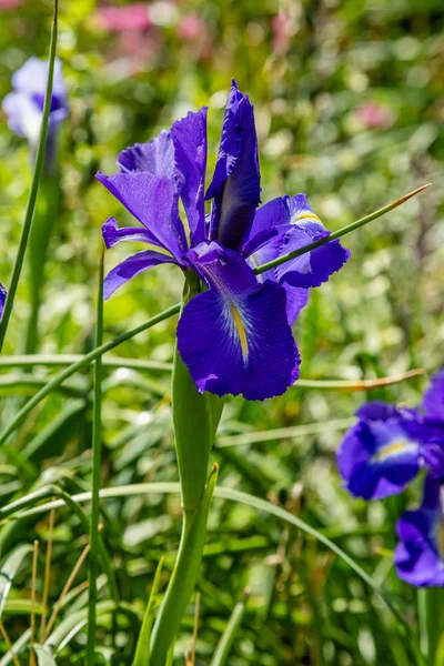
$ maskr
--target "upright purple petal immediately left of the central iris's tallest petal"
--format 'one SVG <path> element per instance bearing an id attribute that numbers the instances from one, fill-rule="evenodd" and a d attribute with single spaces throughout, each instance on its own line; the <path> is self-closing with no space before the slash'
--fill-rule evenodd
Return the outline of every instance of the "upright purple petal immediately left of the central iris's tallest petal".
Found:
<path id="1" fill-rule="evenodd" d="M 205 239 L 206 107 L 188 113 L 171 128 L 175 181 L 190 225 L 191 245 Z"/>

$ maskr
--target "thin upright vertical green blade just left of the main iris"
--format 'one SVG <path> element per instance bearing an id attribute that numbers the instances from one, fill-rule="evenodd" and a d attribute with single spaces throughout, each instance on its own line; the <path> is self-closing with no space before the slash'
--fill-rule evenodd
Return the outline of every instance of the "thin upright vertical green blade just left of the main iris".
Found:
<path id="1" fill-rule="evenodd" d="M 103 250 L 100 259 L 99 290 L 97 305 L 95 347 L 103 340 Z M 92 502 L 90 523 L 90 571 L 88 598 L 88 643 L 87 666 L 95 662 L 95 605 L 98 599 L 97 578 L 99 575 L 99 517 L 100 517 L 100 456 L 101 456 L 101 414 L 102 414 L 102 360 L 99 356 L 94 363 L 94 404 L 92 421 Z"/>

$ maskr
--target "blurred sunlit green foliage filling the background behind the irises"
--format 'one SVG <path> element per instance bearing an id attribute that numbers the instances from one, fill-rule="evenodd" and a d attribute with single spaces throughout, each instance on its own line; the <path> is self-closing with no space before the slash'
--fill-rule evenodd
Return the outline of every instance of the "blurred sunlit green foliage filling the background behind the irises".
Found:
<path id="1" fill-rule="evenodd" d="M 47 57 L 51 4 L 0 1 L 0 97 L 29 56 Z M 62 208 L 54 223 L 41 313 L 42 353 L 84 353 L 93 345 L 100 228 L 127 212 L 94 181 L 114 169 L 118 152 L 147 141 L 189 109 L 208 104 L 209 162 L 214 164 L 232 77 L 255 105 L 263 201 L 306 192 L 330 229 L 337 229 L 410 190 L 434 186 L 390 215 L 347 236 L 352 260 L 313 291 L 296 324 L 302 376 L 357 380 L 443 364 L 444 323 L 444 12 L 440 0 L 176 0 L 139 3 L 149 26 L 104 23 L 93 0 L 60 3 L 59 56 L 70 92 L 61 145 Z M 113 6 L 115 7 L 115 6 Z M 129 7 L 123 3 L 120 8 Z M 140 10 L 138 10 L 140 11 Z M 122 14 L 121 14 L 122 16 Z M 0 280 L 7 285 L 30 184 L 28 150 L 0 124 Z M 211 172 L 211 171 L 210 171 Z M 107 265 L 132 251 L 114 248 Z M 174 268 L 139 275 L 105 304 L 111 337 L 175 303 Z M 6 353 L 20 351 L 29 315 L 24 276 Z M 169 320 L 118 349 L 122 356 L 170 362 L 175 322 Z M 36 367 L 46 379 L 54 370 Z M 4 370 L 11 376 L 11 370 Z M 16 375 L 17 376 L 17 373 Z M 7 503 L 49 481 L 69 492 L 90 483 L 90 377 L 75 396 L 53 395 L 10 441 L 29 465 L 0 462 Z M 232 400 L 221 434 L 327 423 L 364 401 L 413 405 L 421 380 L 372 394 L 291 389 L 264 404 Z M 108 370 L 104 381 L 103 485 L 175 481 L 168 373 Z M 6 392 L 1 390 L 1 395 Z M 8 390 L 9 393 L 11 389 Z M 19 389 L 16 393 L 19 393 Z M 167 396 L 167 397 L 164 397 Z M 2 397 L 2 424 L 23 398 Z M 325 531 L 396 601 L 416 630 L 416 593 L 391 568 L 394 522 L 410 497 L 352 501 L 334 463 L 341 432 L 221 447 L 220 483 L 280 502 Z M 99 617 L 103 664 L 129 664 L 157 563 L 163 581 L 178 546 L 175 496 L 120 498 L 105 504 L 103 535 L 127 614 Z M 47 518 L 2 527 L 2 556 L 20 543 L 42 542 Z M 84 545 L 78 518 L 57 514 L 50 604 Z M 77 584 L 87 577 L 79 574 Z M 162 587 L 163 586 L 163 587 Z M 198 655 L 211 660 L 245 587 L 250 598 L 229 658 L 233 666 L 310 664 L 406 666 L 410 648 L 382 603 L 323 546 L 252 508 L 216 501 L 200 582 Z M 12 640 L 29 626 L 30 563 L 20 572 L 3 617 Z M 102 601 L 108 599 L 101 585 Z M 85 606 L 81 587 L 61 617 Z M 20 602 L 23 602 L 20 606 Z M 23 610 L 24 608 L 24 610 Z M 132 615 L 137 613 L 137 616 Z M 176 664 L 192 634 L 193 608 L 176 644 Z M 58 664 L 82 663 L 85 634 L 75 634 Z M 6 652 L 0 643 L 0 653 Z M 23 662 L 24 663 L 24 662 Z M 99 662 L 98 662 L 99 663 Z M 2 664 L 2 662 L 0 662 Z"/>

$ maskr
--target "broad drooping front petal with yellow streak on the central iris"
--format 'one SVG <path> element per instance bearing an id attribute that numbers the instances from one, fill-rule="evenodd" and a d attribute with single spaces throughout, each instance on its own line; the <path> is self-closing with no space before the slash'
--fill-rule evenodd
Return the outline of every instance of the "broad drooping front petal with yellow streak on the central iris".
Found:
<path id="1" fill-rule="evenodd" d="M 179 352 L 200 392 L 281 395 L 299 376 L 300 357 L 286 321 L 285 292 L 260 284 L 245 261 L 215 242 L 189 253 L 209 285 L 184 307 Z"/>

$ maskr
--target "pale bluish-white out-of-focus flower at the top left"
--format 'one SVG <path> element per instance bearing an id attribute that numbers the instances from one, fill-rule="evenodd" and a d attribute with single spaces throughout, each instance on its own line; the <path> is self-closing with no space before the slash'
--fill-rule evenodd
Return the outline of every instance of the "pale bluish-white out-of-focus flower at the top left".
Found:
<path id="1" fill-rule="evenodd" d="M 36 151 L 43 115 L 44 94 L 48 82 L 48 62 L 30 58 L 12 75 L 12 92 L 2 102 L 9 128 L 29 142 Z M 67 88 L 60 60 L 54 62 L 51 108 L 48 124 L 47 164 L 54 158 L 57 132 L 68 115 Z"/>

